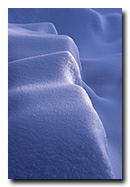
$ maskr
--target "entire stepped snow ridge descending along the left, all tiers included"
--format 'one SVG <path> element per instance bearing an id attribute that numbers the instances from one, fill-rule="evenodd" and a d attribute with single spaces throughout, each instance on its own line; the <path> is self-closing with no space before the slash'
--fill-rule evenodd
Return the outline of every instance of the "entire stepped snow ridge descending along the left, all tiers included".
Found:
<path id="1" fill-rule="evenodd" d="M 51 23 L 8 28 L 8 178 L 113 179 L 74 41 Z"/>

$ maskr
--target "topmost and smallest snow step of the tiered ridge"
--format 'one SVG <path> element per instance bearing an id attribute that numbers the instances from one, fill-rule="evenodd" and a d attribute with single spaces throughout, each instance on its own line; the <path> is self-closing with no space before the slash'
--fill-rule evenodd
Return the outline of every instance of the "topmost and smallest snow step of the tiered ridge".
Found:
<path id="1" fill-rule="evenodd" d="M 58 34 L 55 26 L 51 22 L 29 23 L 29 24 L 12 24 L 8 23 L 9 34 Z"/>

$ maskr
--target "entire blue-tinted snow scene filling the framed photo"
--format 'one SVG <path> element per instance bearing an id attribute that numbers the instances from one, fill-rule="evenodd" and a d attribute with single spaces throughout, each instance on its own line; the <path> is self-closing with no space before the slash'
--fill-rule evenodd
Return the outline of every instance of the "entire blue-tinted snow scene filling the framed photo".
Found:
<path id="1" fill-rule="evenodd" d="M 122 178 L 121 9 L 8 9 L 8 178 Z"/>

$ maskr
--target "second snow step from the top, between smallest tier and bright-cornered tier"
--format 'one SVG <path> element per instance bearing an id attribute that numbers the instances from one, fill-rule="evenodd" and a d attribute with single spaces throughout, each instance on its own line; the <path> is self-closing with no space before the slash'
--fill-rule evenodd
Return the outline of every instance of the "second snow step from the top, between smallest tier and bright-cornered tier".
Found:
<path id="1" fill-rule="evenodd" d="M 14 29 L 15 30 L 15 29 Z M 67 35 L 31 35 L 24 32 L 19 35 L 8 33 L 8 61 L 28 58 L 60 51 L 69 51 L 79 64 L 79 51 L 73 39 Z"/>

